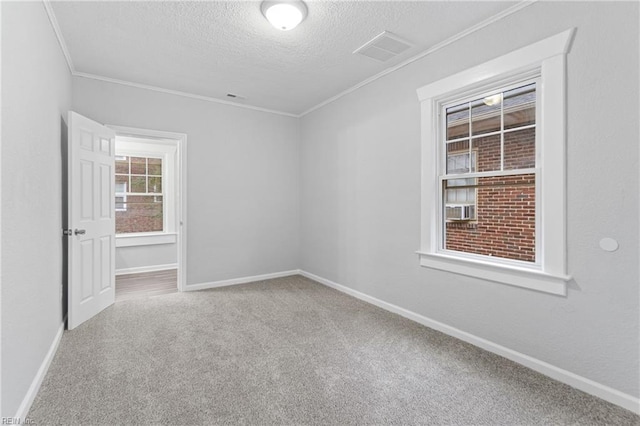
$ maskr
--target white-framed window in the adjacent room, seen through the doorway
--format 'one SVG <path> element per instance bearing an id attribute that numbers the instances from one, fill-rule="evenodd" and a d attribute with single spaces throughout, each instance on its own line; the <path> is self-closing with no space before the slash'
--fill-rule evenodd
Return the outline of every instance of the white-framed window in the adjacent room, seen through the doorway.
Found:
<path id="1" fill-rule="evenodd" d="M 177 142 L 116 136 L 116 247 L 177 241 Z"/>

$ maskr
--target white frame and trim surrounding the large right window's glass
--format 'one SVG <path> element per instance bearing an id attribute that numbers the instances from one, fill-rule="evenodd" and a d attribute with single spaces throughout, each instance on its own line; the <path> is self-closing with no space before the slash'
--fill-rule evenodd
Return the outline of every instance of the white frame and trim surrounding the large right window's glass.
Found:
<path id="1" fill-rule="evenodd" d="M 566 296 L 566 54 L 575 29 L 515 50 L 418 89 L 422 113 L 421 266 Z M 510 84 L 539 78 L 536 90 L 535 264 L 441 249 L 439 179 L 442 107 Z"/>

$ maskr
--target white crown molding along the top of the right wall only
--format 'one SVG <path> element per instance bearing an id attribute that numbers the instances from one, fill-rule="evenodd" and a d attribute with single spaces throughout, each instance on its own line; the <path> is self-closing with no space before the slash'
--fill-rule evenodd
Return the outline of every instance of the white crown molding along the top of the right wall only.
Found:
<path id="1" fill-rule="evenodd" d="M 328 105 L 328 104 L 330 104 L 330 103 L 332 103 L 334 101 L 337 101 L 341 97 L 346 96 L 351 92 L 355 92 L 356 90 L 360 89 L 361 87 L 366 86 L 367 84 L 373 83 L 377 79 L 379 79 L 381 77 L 384 77 L 387 74 L 391 74 L 392 72 L 395 72 L 395 71 L 399 70 L 400 68 L 404 68 L 407 65 L 409 65 L 409 64 L 411 64 L 411 63 L 413 63 L 413 62 L 415 62 L 415 61 L 417 61 L 419 59 L 422 59 L 425 56 L 428 56 L 428 55 L 430 55 L 430 54 L 432 54 L 434 52 L 437 52 L 438 50 L 442 49 L 443 47 L 446 47 L 446 46 L 450 45 L 451 43 L 454 43 L 454 42 L 460 40 L 461 38 L 464 38 L 464 37 L 468 36 L 469 34 L 472 34 L 472 33 L 476 32 L 476 31 L 479 31 L 479 30 L 481 30 L 481 29 L 493 24 L 494 22 L 497 22 L 497 21 L 499 21 L 499 20 L 501 20 L 503 18 L 506 18 L 507 16 L 512 15 L 512 14 L 514 14 L 514 13 L 524 9 L 525 7 L 530 6 L 530 5 L 532 5 L 532 4 L 536 3 L 536 2 L 538 2 L 538 0 L 522 0 L 519 3 L 516 3 L 515 5 L 513 5 L 513 6 L 509 7 L 509 8 L 507 8 L 507 9 L 505 9 L 505 10 L 503 10 L 503 11 L 501 11 L 501 12 L 495 14 L 495 15 L 493 15 L 492 17 L 490 17 L 488 19 L 485 19 L 482 22 L 479 22 L 479 23 L 467 28 L 466 30 L 463 30 L 463 31 L 461 31 L 461 32 L 449 37 L 448 39 L 446 39 L 444 41 L 441 41 L 440 43 L 428 48 L 427 50 L 424 50 L 424 51 L 418 53 L 417 55 L 412 56 L 411 58 L 409 58 L 409 59 L 407 59 L 407 60 L 405 60 L 405 61 L 403 61 L 403 62 L 401 62 L 401 63 L 399 63 L 397 65 L 389 67 L 389 68 L 379 72 L 378 74 L 376 74 L 374 76 L 371 76 L 371 77 L 367 78 L 366 80 L 361 81 L 360 83 L 356 84 L 355 86 L 352 86 L 352 87 L 348 88 L 347 90 L 344 90 L 344 91 L 338 93 L 337 95 L 332 96 L 329 99 L 327 99 L 325 101 L 322 101 L 322 102 L 320 102 L 319 104 L 317 104 L 315 106 L 312 106 L 308 110 L 300 113 L 300 115 L 298 115 L 298 117 L 304 117 L 305 115 L 307 115 L 307 114 L 309 114 L 309 113 L 311 113 L 311 112 L 313 112 L 313 111 L 315 111 L 317 109 L 320 109 L 325 105 Z"/>

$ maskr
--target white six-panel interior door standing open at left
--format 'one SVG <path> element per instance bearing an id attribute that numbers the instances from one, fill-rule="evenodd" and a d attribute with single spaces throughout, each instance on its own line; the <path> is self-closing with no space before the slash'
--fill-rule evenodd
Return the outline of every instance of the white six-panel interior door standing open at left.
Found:
<path id="1" fill-rule="evenodd" d="M 69 111 L 69 330 L 115 301 L 115 132 Z"/>

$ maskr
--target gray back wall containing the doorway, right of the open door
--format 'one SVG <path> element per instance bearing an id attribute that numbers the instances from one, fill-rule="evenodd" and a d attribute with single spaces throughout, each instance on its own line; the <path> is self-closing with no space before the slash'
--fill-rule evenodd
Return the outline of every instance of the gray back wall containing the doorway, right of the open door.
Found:
<path id="1" fill-rule="evenodd" d="M 297 119 L 80 77 L 73 109 L 187 134 L 188 284 L 298 267 Z"/>

